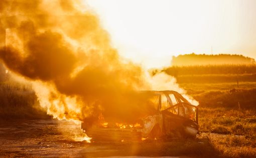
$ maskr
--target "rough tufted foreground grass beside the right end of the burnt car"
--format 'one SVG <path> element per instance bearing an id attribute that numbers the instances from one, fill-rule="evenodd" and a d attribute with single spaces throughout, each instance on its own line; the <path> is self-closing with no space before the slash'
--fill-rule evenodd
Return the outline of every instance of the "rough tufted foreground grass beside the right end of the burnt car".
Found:
<path id="1" fill-rule="evenodd" d="M 201 136 L 209 139 L 220 157 L 255 157 L 256 111 L 200 108 Z"/>

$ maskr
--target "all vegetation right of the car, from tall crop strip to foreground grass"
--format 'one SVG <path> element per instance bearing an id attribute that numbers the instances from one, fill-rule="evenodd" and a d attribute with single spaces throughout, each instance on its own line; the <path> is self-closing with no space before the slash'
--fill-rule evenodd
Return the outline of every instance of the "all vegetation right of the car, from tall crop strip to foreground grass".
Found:
<path id="1" fill-rule="evenodd" d="M 152 73 L 162 71 L 199 102 L 196 141 L 210 144 L 216 157 L 256 156 L 255 64 L 171 66 Z"/>

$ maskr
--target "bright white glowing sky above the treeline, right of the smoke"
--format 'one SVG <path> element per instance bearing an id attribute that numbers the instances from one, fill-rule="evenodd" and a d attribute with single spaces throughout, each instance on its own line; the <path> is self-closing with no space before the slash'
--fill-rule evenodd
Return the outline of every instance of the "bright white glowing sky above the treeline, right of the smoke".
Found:
<path id="1" fill-rule="evenodd" d="M 146 68 L 173 55 L 256 58 L 256 0 L 85 0 L 121 56 Z"/>

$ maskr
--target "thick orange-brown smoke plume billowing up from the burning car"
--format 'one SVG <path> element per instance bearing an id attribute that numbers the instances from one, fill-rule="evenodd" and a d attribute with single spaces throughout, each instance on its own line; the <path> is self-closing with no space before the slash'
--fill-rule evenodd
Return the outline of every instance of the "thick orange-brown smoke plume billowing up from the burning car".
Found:
<path id="1" fill-rule="evenodd" d="M 133 121 L 151 112 L 137 94 L 150 88 L 144 70 L 119 56 L 83 1 L 1 0 L 0 18 L 0 59 L 32 82 L 49 114 Z"/>

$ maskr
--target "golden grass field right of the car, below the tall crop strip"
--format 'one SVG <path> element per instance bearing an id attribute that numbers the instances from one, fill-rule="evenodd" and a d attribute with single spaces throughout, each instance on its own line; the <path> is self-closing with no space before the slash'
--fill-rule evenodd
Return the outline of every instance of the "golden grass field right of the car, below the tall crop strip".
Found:
<path id="1" fill-rule="evenodd" d="M 199 101 L 199 140 L 208 140 L 219 157 L 256 156 L 256 82 L 180 86 Z"/>

